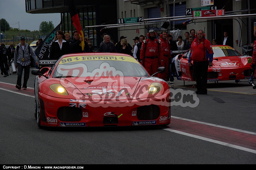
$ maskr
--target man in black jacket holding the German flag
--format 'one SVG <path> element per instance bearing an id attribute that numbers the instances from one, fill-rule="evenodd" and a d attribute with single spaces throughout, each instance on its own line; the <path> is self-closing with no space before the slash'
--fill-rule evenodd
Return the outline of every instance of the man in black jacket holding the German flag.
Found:
<path id="1" fill-rule="evenodd" d="M 78 31 L 74 31 L 73 36 L 74 40 L 70 42 L 71 53 L 89 52 L 89 45 L 86 41 L 84 41 L 84 37 L 80 37 Z M 84 51 L 79 45 L 82 41 L 84 41 Z"/>

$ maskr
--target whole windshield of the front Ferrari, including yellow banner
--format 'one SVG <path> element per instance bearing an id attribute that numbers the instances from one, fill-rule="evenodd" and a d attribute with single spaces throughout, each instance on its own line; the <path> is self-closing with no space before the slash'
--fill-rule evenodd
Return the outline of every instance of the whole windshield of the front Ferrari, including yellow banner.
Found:
<path id="1" fill-rule="evenodd" d="M 102 58 L 105 58 L 102 59 Z M 56 62 L 57 64 L 57 62 Z M 125 56 L 75 56 L 62 58 L 53 77 L 148 77 L 145 69 L 131 57 Z"/>

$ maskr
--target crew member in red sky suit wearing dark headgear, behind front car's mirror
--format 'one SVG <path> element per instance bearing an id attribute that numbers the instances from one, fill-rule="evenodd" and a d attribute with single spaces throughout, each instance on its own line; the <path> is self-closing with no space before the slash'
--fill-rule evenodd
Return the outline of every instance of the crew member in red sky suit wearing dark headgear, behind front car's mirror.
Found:
<path id="1" fill-rule="evenodd" d="M 161 41 L 156 39 L 155 30 L 148 31 L 148 39 L 144 40 L 140 49 L 140 63 L 148 71 L 150 75 L 157 72 L 161 61 L 163 59 Z"/>

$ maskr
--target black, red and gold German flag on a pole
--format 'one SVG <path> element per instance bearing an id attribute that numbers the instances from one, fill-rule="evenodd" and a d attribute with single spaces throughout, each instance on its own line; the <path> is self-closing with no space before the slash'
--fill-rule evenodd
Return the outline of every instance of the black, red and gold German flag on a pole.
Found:
<path id="1" fill-rule="evenodd" d="M 75 26 L 76 30 L 79 33 L 79 36 L 84 39 L 84 33 L 83 33 L 83 30 L 81 27 L 81 23 L 80 23 L 80 20 L 78 17 L 78 13 L 76 10 L 76 5 L 74 3 L 74 0 L 69 0 L 68 12 L 70 14 L 73 25 Z M 82 41 L 79 45 L 82 46 L 82 50 L 84 51 L 84 41 Z"/>

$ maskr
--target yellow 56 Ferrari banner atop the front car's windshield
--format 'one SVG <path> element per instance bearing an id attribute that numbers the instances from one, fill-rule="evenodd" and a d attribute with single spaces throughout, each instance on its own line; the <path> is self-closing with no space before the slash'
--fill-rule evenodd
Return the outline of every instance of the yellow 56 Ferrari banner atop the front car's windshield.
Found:
<path id="1" fill-rule="evenodd" d="M 137 61 L 132 58 L 132 57 L 127 57 L 127 56 L 73 56 L 73 57 L 66 57 L 63 58 L 60 64 L 64 63 L 71 63 L 71 62 L 77 62 L 77 61 L 100 61 L 100 60 L 105 60 L 105 61 L 127 61 L 127 62 L 132 62 L 132 63 L 137 63 Z"/>

